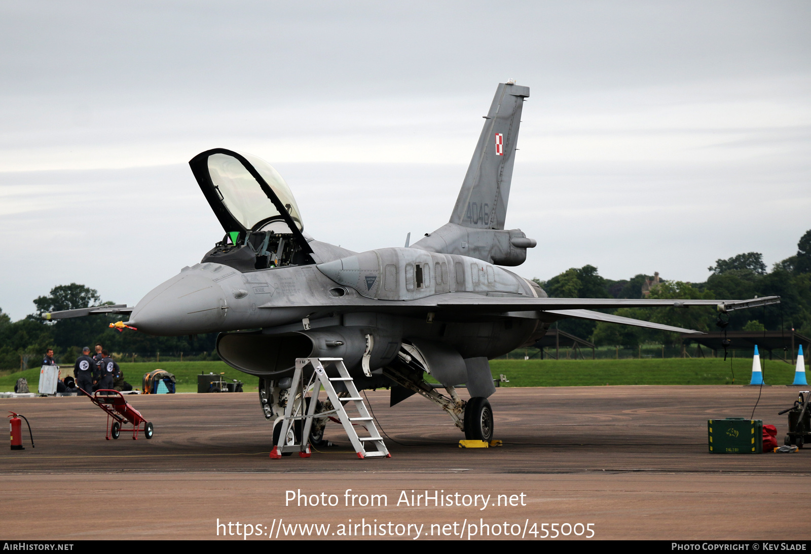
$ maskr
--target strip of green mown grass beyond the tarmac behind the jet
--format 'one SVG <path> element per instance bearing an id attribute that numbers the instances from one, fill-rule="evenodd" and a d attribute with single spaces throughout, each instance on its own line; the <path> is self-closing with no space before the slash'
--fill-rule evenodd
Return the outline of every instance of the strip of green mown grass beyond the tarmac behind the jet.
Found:
<path id="1" fill-rule="evenodd" d="M 752 377 L 752 361 L 736 358 L 726 362 L 719 358 L 701 360 L 665 358 L 663 360 L 491 360 L 493 377 L 500 373 L 509 382 L 503 386 L 606 386 L 606 385 L 746 385 Z M 244 390 L 257 390 L 259 379 L 237 371 L 221 361 L 191 362 L 124 362 L 124 377 L 135 388 L 141 387 L 144 373 L 165 369 L 177 380 L 178 392 L 195 392 L 200 373 L 225 373 L 226 380 L 238 379 Z M 62 369 L 62 377 L 73 373 Z M 0 391 L 14 390 L 19 377 L 28 380 L 36 392 L 39 368 L 0 375 Z M 766 360 L 764 373 L 768 385 L 789 385 L 794 380 L 794 367 L 782 361 Z"/>

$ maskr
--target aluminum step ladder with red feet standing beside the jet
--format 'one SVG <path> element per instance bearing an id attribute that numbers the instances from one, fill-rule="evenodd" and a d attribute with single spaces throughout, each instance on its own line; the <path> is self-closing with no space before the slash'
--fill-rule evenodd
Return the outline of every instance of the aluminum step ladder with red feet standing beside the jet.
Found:
<path id="1" fill-rule="evenodd" d="M 324 364 L 334 364 L 338 370 L 340 377 L 329 377 Z M 305 378 L 307 367 L 311 367 L 312 373 L 309 377 Z M 305 383 L 305 381 L 307 381 Z M 333 386 L 334 381 L 340 381 L 346 389 L 349 396 L 338 396 Z M 315 413 L 316 406 L 318 405 L 318 394 L 321 388 L 327 393 L 330 403 L 333 404 L 333 409 Z M 305 400 L 307 391 L 312 389 L 309 398 L 312 398 L 309 406 Z M 350 438 L 352 447 L 358 454 L 358 458 L 391 458 L 392 455 L 388 453 L 388 449 L 384 444 L 383 437 L 380 437 L 380 432 L 375 426 L 375 420 L 369 415 L 366 404 L 363 403 L 358 387 L 355 386 L 354 380 L 350 377 L 349 371 L 346 369 L 343 358 L 296 358 L 296 368 L 293 373 L 293 383 L 290 385 L 290 394 L 288 395 L 287 406 L 285 407 L 285 418 L 281 422 L 281 433 L 279 433 L 279 441 L 282 445 L 273 445 L 273 450 L 270 457 L 273 459 L 281 458 L 283 453 L 298 452 L 301 458 L 310 457 L 310 431 L 312 428 L 312 420 L 314 418 L 323 418 L 334 414 L 337 420 L 344 426 L 346 436 Z M 357 416 L 350 416 L 346 412 L 346 407 L 354 407 Z M 290 428 L 296 428 L 296 422 L 303 420 L 303 430 L 301 437 L 294 437 L 292 441 L 288 437 Z M 367 428 L 369 437 L 358 437 L 355 431 L 354 422 L 358 422 Z M 300 428 L 300 427 L 299 427 Z M 295 436 L 296 433 L 292 433 Z M 296 444 L 296 441 L 299 444 Z"/>

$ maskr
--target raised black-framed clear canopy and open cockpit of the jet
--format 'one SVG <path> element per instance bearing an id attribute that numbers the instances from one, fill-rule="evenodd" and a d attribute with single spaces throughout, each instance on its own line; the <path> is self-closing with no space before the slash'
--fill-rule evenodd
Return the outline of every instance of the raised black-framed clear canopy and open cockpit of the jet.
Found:
<path id="1" fill-rule="evenodd" d="M 302 234 L 296 200 L 271 164 L 250 154 L 215 148 L 201 152 L 189 165 L 226 233 L 204 259 L 214 257 L 217 260 L 209 261 L 238 265 L 242 271 L 248 266 L 311 263 L 312 250 Z M 231 258 L 240 261 L 229 262 Z"/>

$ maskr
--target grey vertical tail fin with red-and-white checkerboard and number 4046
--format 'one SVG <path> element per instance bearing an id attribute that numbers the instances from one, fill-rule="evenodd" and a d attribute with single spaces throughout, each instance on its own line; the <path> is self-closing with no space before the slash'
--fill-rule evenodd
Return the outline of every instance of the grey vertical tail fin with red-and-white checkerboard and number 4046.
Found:
<path id="1" fill-rule="evenodd" d="M 528 96 L 530 87 L 499 83 L 450 223 L 481 229 L 504 228 L 521 108 Z"/>

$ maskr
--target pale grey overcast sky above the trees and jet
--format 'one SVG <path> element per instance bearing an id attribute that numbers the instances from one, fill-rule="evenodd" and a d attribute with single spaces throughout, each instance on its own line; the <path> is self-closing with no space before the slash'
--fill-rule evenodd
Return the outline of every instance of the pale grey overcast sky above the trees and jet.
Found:
<path id="1" fill-rule="evenodd" d="M 248 151 L 363 251 L 447 222 L 496 84 L 530 87 L 516 269 L 703 281 L 811 228 L 808 2 L 2 2 L 0 308 L 134 305 L 221 239 L 187 166 Z"/>

